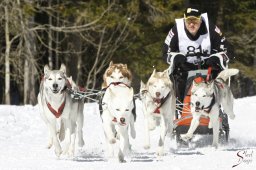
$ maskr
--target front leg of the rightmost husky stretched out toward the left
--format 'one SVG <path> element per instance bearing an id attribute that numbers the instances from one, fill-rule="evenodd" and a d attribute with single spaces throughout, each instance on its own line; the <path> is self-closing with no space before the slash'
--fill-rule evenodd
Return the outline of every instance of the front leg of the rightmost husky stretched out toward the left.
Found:
<path id="1" fill-rule="evenodd" d="M 199 119 L 200 119 L 200 114 L 198 114 L 198 113 L 193 114 L 193 119 L 191 121 L 188 132 L 186 134 L 180 135 L 182 140 L 187 142 L 189 139 L 191 139 L 193 137 L 193 134 L 199 125 Z"/>

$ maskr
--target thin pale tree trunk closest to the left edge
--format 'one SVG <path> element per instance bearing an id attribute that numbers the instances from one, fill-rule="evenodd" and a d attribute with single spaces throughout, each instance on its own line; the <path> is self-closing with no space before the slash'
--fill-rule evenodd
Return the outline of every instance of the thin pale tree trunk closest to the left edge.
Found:
<path id="1" fill-rule="evenodd" d="M 8 7 L 4 7 L 5 12 L 5 104 L 11 104 L 10 100 L 10 33 L 9 33 L 9 12 Z"/>

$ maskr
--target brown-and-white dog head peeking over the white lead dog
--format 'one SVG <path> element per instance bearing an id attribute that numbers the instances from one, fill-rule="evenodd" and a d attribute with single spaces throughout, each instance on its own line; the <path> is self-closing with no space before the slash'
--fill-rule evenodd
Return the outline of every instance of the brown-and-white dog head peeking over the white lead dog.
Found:
<path id="1" fill-rule="evenodd" d="M 113 82 L 122 82 L 130 86 L 132 74 L 126 64 L 113 64 L 111 61 L 103 75 L 103 81 L 102 88 L 106 88 Z"/>

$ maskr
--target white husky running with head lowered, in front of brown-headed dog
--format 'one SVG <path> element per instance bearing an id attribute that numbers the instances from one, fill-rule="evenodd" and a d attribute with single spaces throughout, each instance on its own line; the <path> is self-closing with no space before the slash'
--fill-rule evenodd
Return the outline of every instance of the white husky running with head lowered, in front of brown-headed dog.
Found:
<path id="1" fill-rule="evenodd" d="M 110 157 L 114 156 L 113 144 L 116 143 L 116 134 L 120 138 L 117 156 L 119 162 L 125 162 L 124 155 L 130 147 L 128 127 L 134 124 L 133 107 L 133 88 L 126 84 L 110 84 L 102 99 L 101 118 Z M 130 131 L 131 136 L 135 138 L 134 127 L 130 128 Z"/>

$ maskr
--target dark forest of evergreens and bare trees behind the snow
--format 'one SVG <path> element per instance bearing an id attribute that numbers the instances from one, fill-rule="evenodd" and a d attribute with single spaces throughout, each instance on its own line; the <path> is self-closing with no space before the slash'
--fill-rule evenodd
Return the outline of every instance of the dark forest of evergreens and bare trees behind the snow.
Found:
<path id="1" fill-rule="evenodd" d="M 126 63 L 138 92 L 153 67 L 168 67 L 165 37 L 191 4 L 230 44 L 234 96 L 255 95 L 255 0 L 0 0 L 0 103 L 35 105 L 45 64 L 64 63 L 79 86 L 99 90 L 109 62 Z"/>

